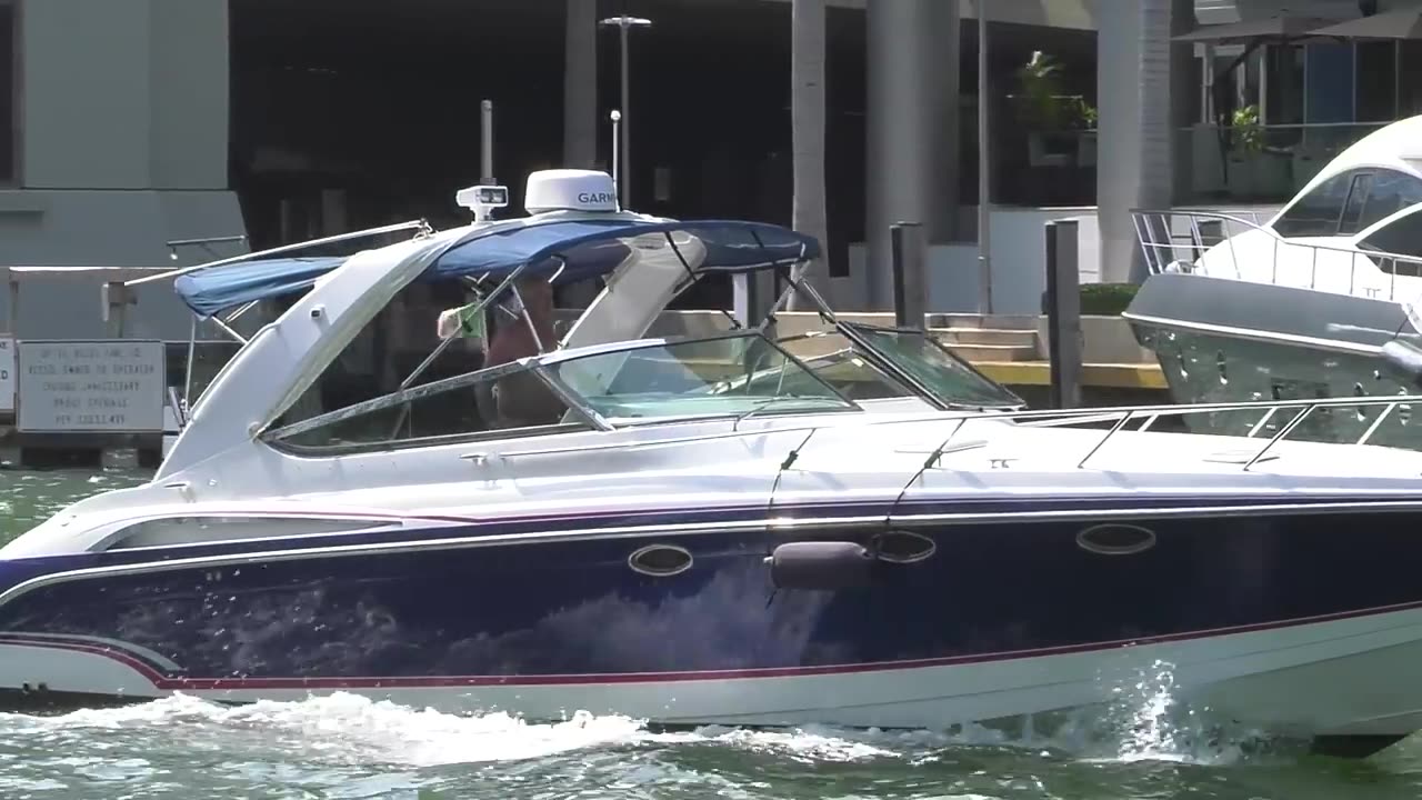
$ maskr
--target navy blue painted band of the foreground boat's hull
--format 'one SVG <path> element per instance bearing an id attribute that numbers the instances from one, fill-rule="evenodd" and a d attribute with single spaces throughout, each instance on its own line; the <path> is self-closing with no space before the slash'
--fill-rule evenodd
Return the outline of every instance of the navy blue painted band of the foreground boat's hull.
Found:
<path id="1" fill-rule="evenodd" d="M 31 584 L 0 604 L 0 641 L 102 651 L 161 688 L 555 683 L 991 660 L 1422 605 L 1422 511 L 1199 514 L 1142 512 L 1129 524 L 1153 532 L 1153 547 L 1129 555 L 1082 548 L 1078 534 L 1094 524 L 1082 518 L 914 528 L 934 541 L 930 558 L 884 564 L 873 585 L 840 591 L 776 591 L 765 557 L 792 538 L 867 541 L 876 531 L 791 537 L 728 524 L 489 544 L 479 537 L 519 527 L 471 522 L 398 540 L 293 540 L 280 547 L 419 541 Z M 694 564 L 673 577 L 638 574 L 629 555 L 648 544 L 685 548 Z M 173 548 L 162 558 L 273 548 Z M 156 559 L 115 551 L 3 562 L 0 589 Z"/>

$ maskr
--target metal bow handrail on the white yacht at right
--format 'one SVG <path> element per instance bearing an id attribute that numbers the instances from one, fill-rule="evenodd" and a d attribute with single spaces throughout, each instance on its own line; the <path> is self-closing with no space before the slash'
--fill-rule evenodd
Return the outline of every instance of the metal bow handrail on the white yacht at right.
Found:
<path id="1" fill-rule="evenodd" d="M 1221 222 L 1226 226 L 1236 225 L 1247 231 L 1260 231 L 1267 235 L 1273 242 L 1273 269 L 1270 270 L 1270 283 L 1277 283 L 1278 280 L 1278 251 L 1280 246 L 1287 246 L 1294 251 L 1307 249 L 1311 252 L 1311 272 L 1308 279 L 1308 288 L 1317 289 L 1318 286 L 1318 253 L 1320 252 L 1337 252 L 1349 258 L 1348 266 L 1348 295 L 1376 298 L 1371 290 L 1365 293 L 1358 292 L 1358 266 L 1359 260 L 1357 256 L 1364 256 L 1368 259 L 1367 263 L 1372 263 L 1372 259 L 1379 259 L 1382 262 L 1391 262 L 1391 269 L 1382 269 L 1382 266 L 1374 266 L 1379 273 L 1388 276 L 1388 295 L 1386 299 L 1396 302 L 1398 299 L 1398 263 L 1413 263 L 1418 265 L 1418 273 L 1422 275 L 1422 258 L 1409 253 L 1394 253 L 1386 251 L 1372 251 L 1361 249 L 1354 246 L 1342 245 L 1327 245 L 1320 242 L 1300 242 L 1280 236 L 1273 228 L 1266 228 L 1257 222 L 1251 222 L 1241 216 L 1231 214 L 1223 214 L 1217 211 L 1203 211 L 1203 209 L 1155 209 L 1155 208 L 1136 208 L 1130 211 L 1132 223 L 1136 231 L 1136 241 L 1140 245 L 1142 255 L 1146 260 L 1146 268 L 1152 275 L 1159 275 L 1166 270 L 1169 263 L 1173 263 L 1175 252 L 1177 249 L 1187 249 L 1190 252 L 1197 252 L 1193 260 L 1197 262 L 1203 258 L 1204 252 L 1219 246 L 1226 245 L 1230 249 L 1230 260 L 1234 265 L 1234 276 L 1243 278 L 1240 272 L 1240 259 L 1234 252 L 1234 235 L 1223 233 L 1220 241 L 1213 243 L 1206 243 L 1204 233 L 1200 226 L 1200 221 Z M 1177 233 L 1175 226 L 1175 218 L 1185 218 L 1189 225 L 1187 233 Z M 1237 233 L 1236 233 L 1237 235 Z M 1187 238 L 1187 242 L 1180 242 L 1180 238 Z M 1165 255 L 1162 255 L 1165 253 Z M 1167 259 L 1170 262 L 1167 263 Z M 1185 275 L 1193 273 L 1193 270 L 1183 272 Z"/>

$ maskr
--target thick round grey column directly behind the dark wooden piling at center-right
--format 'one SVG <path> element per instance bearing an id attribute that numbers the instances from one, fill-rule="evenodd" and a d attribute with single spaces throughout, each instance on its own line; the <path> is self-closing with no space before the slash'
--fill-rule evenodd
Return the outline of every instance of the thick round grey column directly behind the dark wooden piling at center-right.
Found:
<path id="1" fill-rule="evenodd" d="M 930 242 L 958 212 L 958 4 L 867 0 L 869 303 L 890 302 L 889 226 L 923 222 Z"/>

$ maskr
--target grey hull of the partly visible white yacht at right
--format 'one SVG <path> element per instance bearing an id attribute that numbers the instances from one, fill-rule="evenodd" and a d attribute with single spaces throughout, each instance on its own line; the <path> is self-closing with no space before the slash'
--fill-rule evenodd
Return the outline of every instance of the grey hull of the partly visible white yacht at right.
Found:
<path id="1" fill-rule="evenodd" d="M 1126 312 L 1175 403 L 1250 403 L 1412 394 L 1378 349 L 1419 337 L 1392 302 L 1203 275 L 1153 275 Z M 1422 409 L 1318 409 L 1290 440 L 1422 448 Z M 1295 410 L 1186 414 L 1192 433 L 1273 436 Z M 1374 426 L 1379 414 L 1386 414 Z M 1258 428 L 1256 430 L 1256 426 Z M 1369 433 L 1371 430 L 1371 433 Z"/>

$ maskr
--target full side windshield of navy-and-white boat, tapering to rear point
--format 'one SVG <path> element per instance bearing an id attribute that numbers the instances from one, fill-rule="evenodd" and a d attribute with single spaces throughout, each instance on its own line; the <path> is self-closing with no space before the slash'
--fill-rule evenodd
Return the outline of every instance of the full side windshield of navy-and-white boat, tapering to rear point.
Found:
<path id="1" fill-rule="evenodd" d="M 751 380 L 747 380 L 751 376 Z M 862 411 L 758 332 L 533 356 L 279 420 L 296 451 L 368 451 L 698 417 Z"/>

